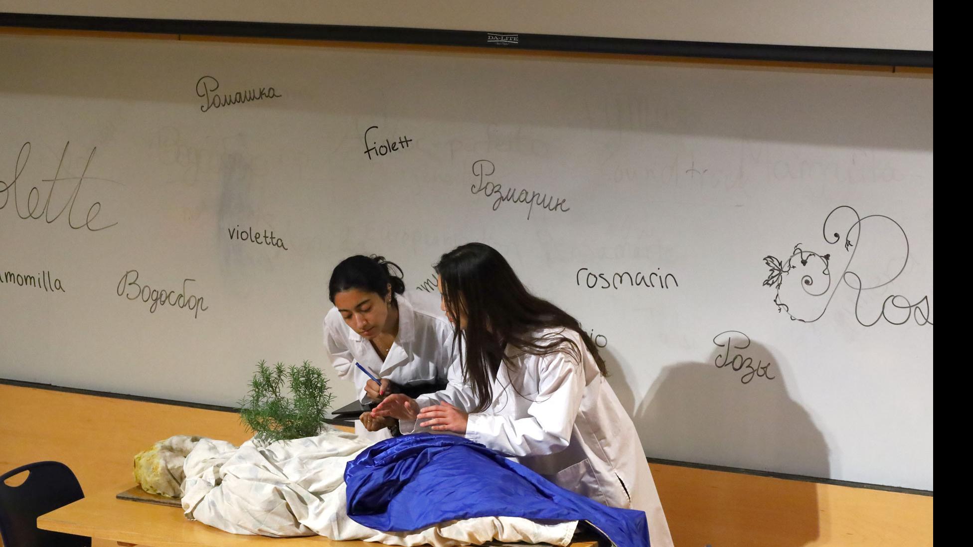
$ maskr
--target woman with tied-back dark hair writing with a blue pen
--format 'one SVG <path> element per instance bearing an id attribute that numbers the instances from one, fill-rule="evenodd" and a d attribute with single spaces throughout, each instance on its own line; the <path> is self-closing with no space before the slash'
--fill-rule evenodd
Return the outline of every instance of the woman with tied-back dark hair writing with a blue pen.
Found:
<path id="1" fill-rule="evenodd" d="M 331 364 L 340 378 L 355 383 L 362 403 L 374 405 L 392 392 L 415 397 L 443 389 L 442 399 L 462 404 L 452 327 L 439 310 L 416 306 L 405 289 L 402 270 L 380 256 L 355 255 L 335 267 L 328 282 L 335 307 L 324 318 Z M 356 433 L 376 441 L 395 434 L 396 427 L 395 419 L 370 412 L 355 423 Z"/>

